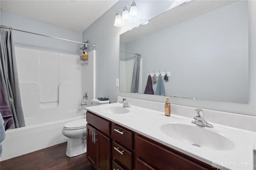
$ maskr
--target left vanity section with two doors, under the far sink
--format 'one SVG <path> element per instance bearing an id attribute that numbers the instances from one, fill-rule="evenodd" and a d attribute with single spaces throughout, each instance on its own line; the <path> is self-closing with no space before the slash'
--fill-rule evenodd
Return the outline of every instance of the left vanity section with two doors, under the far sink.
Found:
<path id="1" fill-rule="evenodd" d="M 87 121 L 87 159 L 96 170 L 111 168 L 110 121 L 93 113 L 86 113 Z"/>

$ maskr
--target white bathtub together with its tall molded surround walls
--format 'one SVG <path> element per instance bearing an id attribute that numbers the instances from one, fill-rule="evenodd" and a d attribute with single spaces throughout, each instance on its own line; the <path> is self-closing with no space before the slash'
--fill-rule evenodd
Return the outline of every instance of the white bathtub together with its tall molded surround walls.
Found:
<path id="1" fill-rule="evenodd" d="M 90 69 L 94 57 L 90 51 Z M 16 58 L 26 127 L 6 131 L 1 160 L 66 142 L 64 124 L 85 118 L 78 111 L 84 95 L 80 56 L 16 47 Z"/>

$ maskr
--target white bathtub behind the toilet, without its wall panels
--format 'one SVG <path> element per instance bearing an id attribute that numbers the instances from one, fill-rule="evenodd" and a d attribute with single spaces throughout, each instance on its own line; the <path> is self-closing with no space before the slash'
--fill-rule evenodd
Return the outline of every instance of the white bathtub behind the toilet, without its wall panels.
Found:
<path id="1" fill-rule="evenodd" d="M 26 127 L 6 130 L 6 138 L 2 142 L 1 161 L 68 141 L 68 138 L 62 134 L 64 124 L 85 118 L 85 113 L 84 110 L 74 111 L 72 114 L 69 112 L 68 115 L 58 116 L 59 120 L 53 119 L 50 122 L 47 120 L 49 117 L 39 120 L 38 118 L 35 120 L 25 118 Z M 72 115 L 73 117 L 71 117 Z"/>

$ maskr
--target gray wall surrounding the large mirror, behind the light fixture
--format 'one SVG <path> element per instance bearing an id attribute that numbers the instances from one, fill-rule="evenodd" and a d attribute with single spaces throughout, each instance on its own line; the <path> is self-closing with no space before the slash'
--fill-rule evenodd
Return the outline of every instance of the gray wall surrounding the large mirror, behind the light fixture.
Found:
<path id="1" fill-rule="evenodd" d="M 166 3 L 170 1 L 137 1 L 138 10 L 141 14 L 146 13 L 147 19 L 168 10 Z M 165 97 L 151 96 L 144 94 L 132 94 L 119 92 L 116 87 L 116 78 L 119 78 L 119 35 L 130 28 L 114 27 L 114 18 L 119 7 L 128 4 L 130 1 L 119 1 L 110 10 L 96 20 L 89 28 L 83 32 L 83 40 L 88 38 L 91 43 L 96 44 L 96 97 L 109 97 L 111 102 L 117 101 L 117 96 L 133 97 L 136 99 L 147 99 L 150 101 L 164 102 Z M 157 3 L 157 4 L 156 4 Z M 146 8 L 140 9 L 143 6 Z M 166 8 L 164 8 L 164 6 Z M 154 7 L 158 7 L 154 10 Z M 161 8 L 162 7 L 162 8 Z M 148 9 L 148 12 L 146 11 Z M 249 10 L 249 104 L 214 102 L 206 100 L 193 100 L 174 98 L 170 99 L 172 104 L 198 107 L 202 109 L 212 109 L 226 111 L 244 115 L 256 115 L 256 92 L 255 92 L 255 46 L 256 46 L 256 2 L 248 2 Z M 155 13 L 154 13 L 155 12 Z"/>

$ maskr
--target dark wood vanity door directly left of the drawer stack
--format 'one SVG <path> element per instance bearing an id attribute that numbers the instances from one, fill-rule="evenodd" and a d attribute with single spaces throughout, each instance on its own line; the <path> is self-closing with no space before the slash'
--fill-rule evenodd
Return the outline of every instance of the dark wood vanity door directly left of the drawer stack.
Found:
<path id="1" fill-rule="evenodd" d="M 110 138 L 105 136 L 104 134 L 97 132 L 96 134 L 96 143 L 98 142 L 99 148 L 99 162 L 98 169 L 99 170 L 110 170 Z"/>

